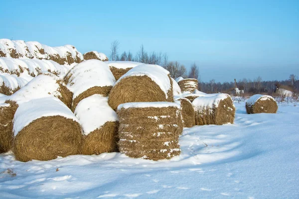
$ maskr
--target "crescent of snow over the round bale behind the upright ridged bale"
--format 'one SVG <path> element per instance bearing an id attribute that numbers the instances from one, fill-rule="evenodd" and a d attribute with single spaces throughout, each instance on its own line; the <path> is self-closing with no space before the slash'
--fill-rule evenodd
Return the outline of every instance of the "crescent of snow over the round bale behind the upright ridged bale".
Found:
<path id="1" fill-rule="evenodd" d="M 169 71 L 167 71 L 161 66 L 153 65 L 153 64 L 143 64 L 128 71 L 116 82 L 116 84 L 119 83 L 122 79 L 130 76 L 148 76 L 153 82 L 155 82 L 161 88 L 161 90 L 165 93 L 167 99 L 168 98 L 167 92 L 168 90 L 171 89 L 168 75 L 169 75 Z"/>

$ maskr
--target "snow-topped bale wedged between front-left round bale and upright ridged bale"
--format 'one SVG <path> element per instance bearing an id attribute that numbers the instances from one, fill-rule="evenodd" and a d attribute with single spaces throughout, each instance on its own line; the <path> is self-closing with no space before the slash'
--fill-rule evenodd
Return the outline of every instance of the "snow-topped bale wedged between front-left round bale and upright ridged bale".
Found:
<path id="1" fill-rule="evenodd" d="M 95 94 L 81 100 L 74 111 L 83 129 L 84 155 L 117 151 L 118 116 L 107 101 Z"/>

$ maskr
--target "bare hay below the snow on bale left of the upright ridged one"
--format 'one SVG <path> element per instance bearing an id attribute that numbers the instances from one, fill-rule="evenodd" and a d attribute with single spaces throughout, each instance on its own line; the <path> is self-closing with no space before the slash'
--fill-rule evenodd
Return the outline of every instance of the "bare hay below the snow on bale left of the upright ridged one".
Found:
<path id="1" fill-rule="evenodd" d="M 106 122 L 102 127 L 83 137 L 82 154 L 117 152 L 117 132 L 118 122 Z"/>

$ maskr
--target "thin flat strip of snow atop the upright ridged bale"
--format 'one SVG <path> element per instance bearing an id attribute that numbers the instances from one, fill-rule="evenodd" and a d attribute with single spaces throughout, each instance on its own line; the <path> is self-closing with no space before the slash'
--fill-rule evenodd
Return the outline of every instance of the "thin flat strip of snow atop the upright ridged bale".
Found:
<path id="1" fill-rule="evenodd" d="M 161 107 L 177 107 L 180 108 L 179 102 L 166 102 L 166 101 L 153 101 L 153 102 L 128 102 L 120 104 L 117 109 L 120 110 L 122 108 L 161 108 Z"/>

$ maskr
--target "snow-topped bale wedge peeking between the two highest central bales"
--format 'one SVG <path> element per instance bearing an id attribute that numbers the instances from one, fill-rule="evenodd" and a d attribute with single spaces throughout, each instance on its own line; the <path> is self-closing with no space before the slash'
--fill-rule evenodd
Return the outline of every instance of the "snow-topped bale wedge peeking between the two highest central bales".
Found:
<path id="1" fill-rule="evenodd" d="M 132 68 L 143 65 L 143 63 L 131 61 L 109 61 L 107 64 L 116 80 L 120 79 Z"/>

